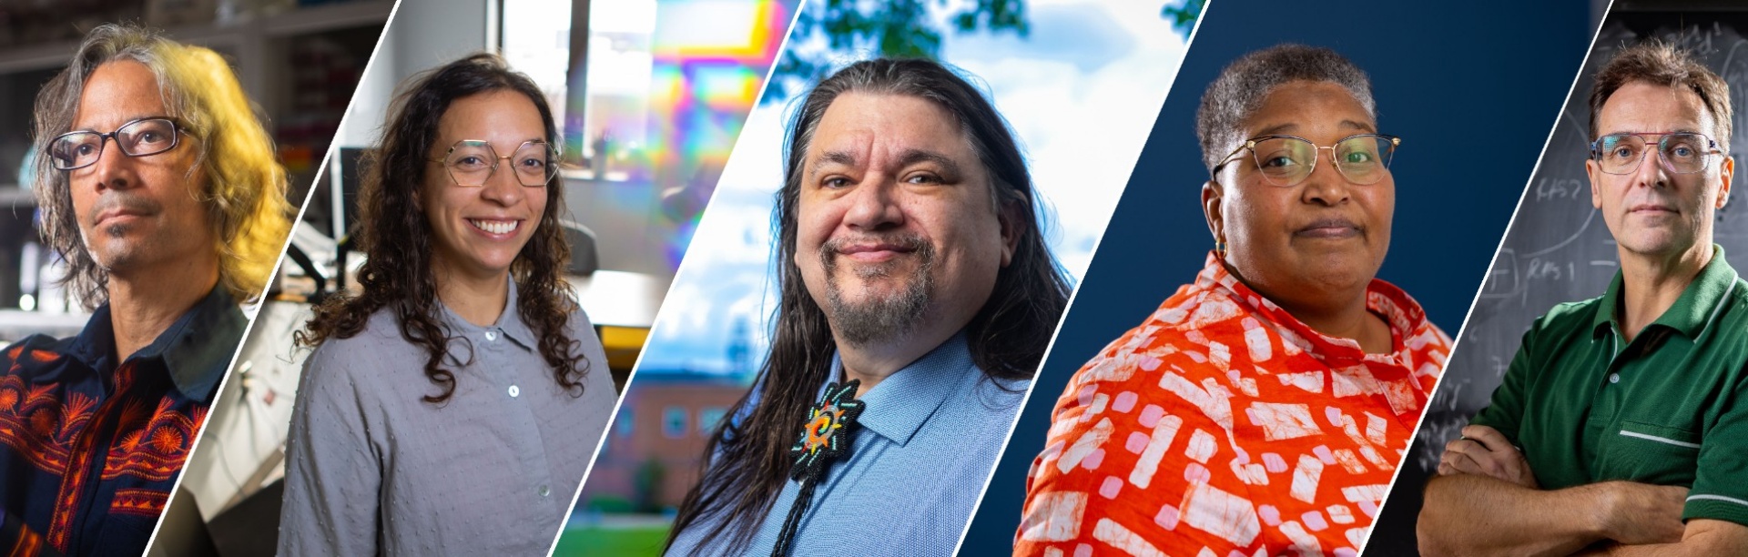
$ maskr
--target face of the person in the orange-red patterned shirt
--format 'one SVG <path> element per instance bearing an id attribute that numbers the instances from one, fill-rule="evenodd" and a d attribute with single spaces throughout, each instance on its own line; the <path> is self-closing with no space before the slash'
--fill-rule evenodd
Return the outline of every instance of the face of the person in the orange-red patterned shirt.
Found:
<path id="1" fill-rule="evenodd" d="M 1243 129 L 1250 138 L 1292 134 L 1335 145 L 1377 133 L 1377 124 L 1348 89 L 1295 80 L 1274 87 Z M 1248 150 L 1234 157 L 1203 190 L 1208 223 L 1227 243 L 1232 271 L 1276 302 L 1363 292 L 1390 251 L 1395 176 L 1384 171 L 1377 182 L 1356 185 L 1323 159 L 1304 182 L 1280 187 L 1257 169 Z"/>

